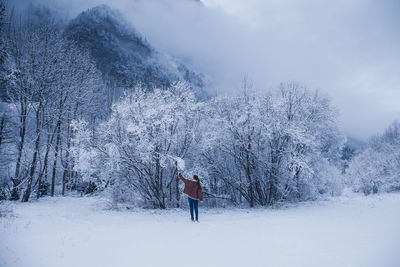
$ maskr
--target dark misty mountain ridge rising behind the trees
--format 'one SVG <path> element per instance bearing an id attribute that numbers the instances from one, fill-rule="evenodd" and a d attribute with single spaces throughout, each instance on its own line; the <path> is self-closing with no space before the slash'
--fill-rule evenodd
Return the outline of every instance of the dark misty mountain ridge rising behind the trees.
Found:
<path id="1" fill-rule="evenodd" d="M 114 88 L 167 88 L 188 82 L 198 98 L 205 98 L 204 77 L 171 56 L 156 51 L 115 9 L 100 5 L 72 19 L 64 32 L 87 49 L 104 80 Z"/>

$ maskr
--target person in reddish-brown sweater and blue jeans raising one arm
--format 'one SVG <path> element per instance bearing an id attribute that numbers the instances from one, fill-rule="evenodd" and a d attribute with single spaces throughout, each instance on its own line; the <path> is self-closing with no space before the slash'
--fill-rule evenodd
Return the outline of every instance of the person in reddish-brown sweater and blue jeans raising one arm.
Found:
<path id="1" fill-rule="evenodd" d="M 203 203 L 203 190 L 201 188 L 200 179 L 197 175 L 193 175 L 192 180 L 185 179 L 180 171 L 178 171 L 178 176 L 185 184 L 183 193 L 188 196 L 192 222 L 195 221 L 193 209 L 196 215 L 196 222 L 199 222 L 199 201 Z"/>

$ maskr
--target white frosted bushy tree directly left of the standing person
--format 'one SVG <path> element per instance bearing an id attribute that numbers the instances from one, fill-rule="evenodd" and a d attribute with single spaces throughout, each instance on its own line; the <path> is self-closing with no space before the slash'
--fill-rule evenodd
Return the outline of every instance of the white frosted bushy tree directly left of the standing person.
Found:
<path id="1" fill-rule="evenodd" d="M 88 138 L 85 122 L 74 122 L 75 168 L 86 179 L 113 184 L 116 200 L 176 205 L 177 160 L 192 147 L 198 121 L 198 104 L 185 83 L 153 92 L 137 87 L 112 106 L 98 140 Z"/>

